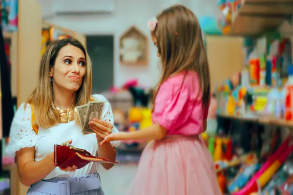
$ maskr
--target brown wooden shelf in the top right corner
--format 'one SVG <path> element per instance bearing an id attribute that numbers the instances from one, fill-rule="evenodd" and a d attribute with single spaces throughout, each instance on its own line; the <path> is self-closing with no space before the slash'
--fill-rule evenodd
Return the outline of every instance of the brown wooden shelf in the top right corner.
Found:
<path id="1" fill-rule="evenodd" d="M 293 0 L 243 0 L 230 36 L 259 36 L 277 29 L 293 13 Z"/>

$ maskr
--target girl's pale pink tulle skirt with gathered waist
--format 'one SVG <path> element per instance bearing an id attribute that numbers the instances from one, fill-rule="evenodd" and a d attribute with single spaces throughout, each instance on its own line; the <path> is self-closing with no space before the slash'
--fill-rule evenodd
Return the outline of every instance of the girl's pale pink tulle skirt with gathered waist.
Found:
<path id="1" fill-rule="evenodd" d="M 213 159 L 199 137 L 167 136 L 144 150 L 127 195 L 221 195 Z"/>

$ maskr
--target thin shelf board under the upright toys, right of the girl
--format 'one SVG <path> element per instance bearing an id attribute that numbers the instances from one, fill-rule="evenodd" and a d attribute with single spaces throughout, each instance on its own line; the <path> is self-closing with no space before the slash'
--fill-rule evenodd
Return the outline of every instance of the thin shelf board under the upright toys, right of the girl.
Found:
<path id="1" fill-rule="evenodd" d="M 243 121 L 251 121 L 251 122 L 258 122 L 261 124 L 267 125 L 278 125 L 284 127 L 291 127 L 293 128 L 293 122 L 288 122 L 284 119 L 277 119 L 277 118 L 269 118 L 269 117 L 242 117 L 242 116 L 230 116 L 230 115 L 218 115 L 219 117 L 231 118 L 236 120 L 243 120 Z"/>

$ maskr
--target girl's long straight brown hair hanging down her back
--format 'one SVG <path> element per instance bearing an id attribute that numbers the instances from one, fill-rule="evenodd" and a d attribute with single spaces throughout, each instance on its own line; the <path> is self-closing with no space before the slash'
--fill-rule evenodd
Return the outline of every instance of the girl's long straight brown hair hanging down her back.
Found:
<path id="1" fill-rule="evenodd" d="M 158 23 L 151 33 L 157 39 L 163 71 L 154 90 L 154 99 L 167 78 L 181 72 L 186 72 L 186 76 L 188 71 L 194 71 L 201 85 L 203 106 L 207 106 L 210 94 L 209 65 L 196 16 L 182 5 L 173 5 L 156 18 Z"/>

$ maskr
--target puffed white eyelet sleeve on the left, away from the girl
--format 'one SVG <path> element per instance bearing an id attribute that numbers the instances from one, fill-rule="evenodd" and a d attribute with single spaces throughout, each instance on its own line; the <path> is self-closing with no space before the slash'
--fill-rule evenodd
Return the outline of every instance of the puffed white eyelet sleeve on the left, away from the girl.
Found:
<path id="1" fill-rule="evenodd" d="M 32 128 L 31 116 L 30 105 L 21 104 L 11 124 L 7 155 L 14 156 L 21 148 L 31 148 L 36 145 L 37 134 Z"/>

